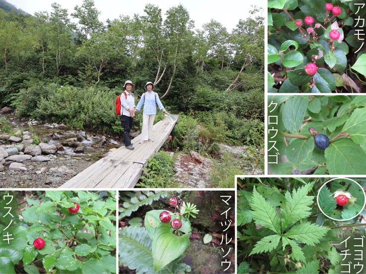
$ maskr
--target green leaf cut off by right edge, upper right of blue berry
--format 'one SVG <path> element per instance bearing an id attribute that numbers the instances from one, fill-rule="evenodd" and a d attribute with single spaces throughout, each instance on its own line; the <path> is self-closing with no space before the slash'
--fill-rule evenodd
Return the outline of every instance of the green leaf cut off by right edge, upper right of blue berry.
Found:
<path id="1" fill-rule="evenodd" d="M 342 129 L 351 139 L 366 151 L 366 107 L 356 109 Z"/>

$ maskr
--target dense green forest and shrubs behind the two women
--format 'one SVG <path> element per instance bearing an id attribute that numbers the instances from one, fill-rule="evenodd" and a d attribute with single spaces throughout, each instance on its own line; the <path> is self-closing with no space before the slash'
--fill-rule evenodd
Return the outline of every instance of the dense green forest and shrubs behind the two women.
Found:
<path id="1" fill-rule="evenodd" d="M 167 111 L 181 114 L 173 131 L 177 146 L 192 123 L 200 125 L 203 150 L 214 142 L 261 146 L 261 13 L 252 7 L 229 31 L 214 19 L 195 26 L 183 5 L 170 7 L 164 20 L 159 6 L 146 4 L 142 15 L 105 24 L 93 0 L 70 14 L 56 2 L 50 13 L 34 16 L 0 9 L 0 107 L 13 107 L 18 117 L 119 135 L 114 104 L 124 81 L 136 84 L 136 101 L 152 81 Z"/>

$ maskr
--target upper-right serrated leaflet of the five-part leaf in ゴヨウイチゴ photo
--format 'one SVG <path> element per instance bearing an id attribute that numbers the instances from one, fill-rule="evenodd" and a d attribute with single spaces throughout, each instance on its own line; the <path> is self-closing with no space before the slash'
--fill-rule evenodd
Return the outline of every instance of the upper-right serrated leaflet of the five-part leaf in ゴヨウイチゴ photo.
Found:
<path id="1" fill-rule="evenodd" d="M 314 196 L 307 196 L 307 193 L 312 189 L 314 182 L 306 184 L 297 190 L 294 190 L 292 195 L 289 191 L 285 194 L 285 203 L 281 206 L 281 222 L 282 228 L 285 229 L 288 225 L 306 218 L 310 215 L 310 205 L 313 204 Z"/>

